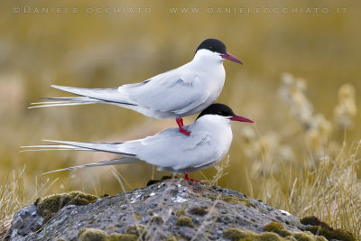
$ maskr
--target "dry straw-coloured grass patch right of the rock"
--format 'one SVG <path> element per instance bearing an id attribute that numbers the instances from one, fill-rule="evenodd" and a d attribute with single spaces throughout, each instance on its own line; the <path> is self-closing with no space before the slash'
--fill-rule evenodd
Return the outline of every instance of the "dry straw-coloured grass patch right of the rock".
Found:
<path id="1" fill-rule="evenodd" d="M 308 162 L 302 169 L 282 168 L 282 175 L 262 178 L 261 191 L 253 197 L 299 218 L 317 216 L 361 238 L 360 147 L 361 142 L 347 151 L 345 144 L 337 158 L 325 158 L 315 168 Z"/>

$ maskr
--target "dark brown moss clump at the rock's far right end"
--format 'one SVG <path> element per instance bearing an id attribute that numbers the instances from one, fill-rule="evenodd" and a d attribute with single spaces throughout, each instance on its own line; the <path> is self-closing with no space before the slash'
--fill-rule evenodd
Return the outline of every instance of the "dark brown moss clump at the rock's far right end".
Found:
<path id="1" fill-rule="evenodd" d="M 356 241 L 356 237 L 353 234 L 340 228 L 330 227 L 329 224 L 322 222 L 314 216 L 302 218 L 301 224 L 311 226 L 307 227 L 306 230 L 314 235 L 325 236 L 329 240 Z"/>

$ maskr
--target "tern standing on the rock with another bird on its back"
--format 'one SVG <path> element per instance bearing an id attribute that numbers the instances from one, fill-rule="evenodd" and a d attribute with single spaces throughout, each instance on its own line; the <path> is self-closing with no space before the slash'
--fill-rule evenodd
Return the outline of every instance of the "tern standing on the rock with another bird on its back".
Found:
<path id="1" fill-rule="evenodd" d="M 116 165 L 123 163 L 147 162 L 160 171 L 185 173 L 199 171 L 220 162 L 227 154 L 232 142 L 232 121 L 253 123 L 252 120 L 236 116 L 230 107 L 212 104 L 204 109 L 196 121 L 184 128 L 192 134 L 180 134 L 177 128 L 169 128 L 153 136 L 124 143 L 78 143 L 49 141 L 57 144 L 23 146 L 24 151 L 76 150 L 117 153 L 121 157 L 85 165 L 73 166 L 55 171 L 78 168 Z M 192 180 L 190 180 L 192 181 Z"/>

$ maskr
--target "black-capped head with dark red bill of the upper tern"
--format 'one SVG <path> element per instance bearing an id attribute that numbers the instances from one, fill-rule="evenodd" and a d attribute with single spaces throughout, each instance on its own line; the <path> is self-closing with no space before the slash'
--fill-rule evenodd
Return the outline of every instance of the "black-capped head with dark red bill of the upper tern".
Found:
<path id="1" fill-rule="evenodd" d="M 226 45 L 216 39 L 207 39 L 199 44 L 199 47 L 195 53 L 197 55 L 207 55 L 209 57 L 217 58 L 218 60 L 231 60 L 236 63 L 243 64 L 235 56 L 227 52 Z"/>

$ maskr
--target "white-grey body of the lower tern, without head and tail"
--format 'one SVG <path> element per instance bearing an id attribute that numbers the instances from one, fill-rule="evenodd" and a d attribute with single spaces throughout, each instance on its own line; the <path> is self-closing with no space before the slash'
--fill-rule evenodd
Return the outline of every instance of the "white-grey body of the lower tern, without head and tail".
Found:
<path id="1" fill-rule="evenodd" d="M 126 142 L 120 152 L 136 153 L 142 161 L 162 171 L 198 171 L 221 161 L 232 142 L 230 120 L 221 116 L 203 116 L 185 128 L 192 134 L 167 129 L 147 138 Z M 170 164 L 171 163 L 171 164 Z"/>

